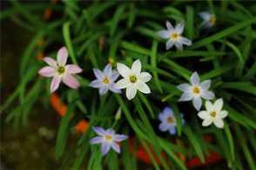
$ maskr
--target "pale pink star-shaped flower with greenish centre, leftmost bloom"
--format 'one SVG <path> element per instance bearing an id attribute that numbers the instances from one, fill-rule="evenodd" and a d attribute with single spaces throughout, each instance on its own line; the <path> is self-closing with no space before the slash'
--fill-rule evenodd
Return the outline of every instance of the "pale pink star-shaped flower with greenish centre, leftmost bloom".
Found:
<path id="1" fill-rule="evenodd" d="M 66 64 L 68 58 L 68 51 L 65 47 L 57 51 L 57 61 L 51 57 L 44 57 L 46 66 L 38 71 L 39 75 L 45 77 L 52 77 L 51 80 L 51 93 L 57 90 L 60 82 L 64 82 L 70 88 L 78 88 L 79 82 L 73 76 L 74 74 L 82 72 L 76 64 Z"/>

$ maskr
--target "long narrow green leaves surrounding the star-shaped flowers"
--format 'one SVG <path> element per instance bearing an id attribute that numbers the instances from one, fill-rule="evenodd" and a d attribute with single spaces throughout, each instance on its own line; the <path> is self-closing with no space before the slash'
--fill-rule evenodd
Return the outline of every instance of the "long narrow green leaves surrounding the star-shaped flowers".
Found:
<path id="1" fill-rule="evenodd" d="M 57 91 L 69 108 L 59 124 L 57 159 L 66 160 L 70 155 L 66 152 L 70 147 L 68 139 L 74 124 L 83 117 L 90 121 L 90 127 L 73 149 L 74 156 L 67 164 L 72 169 L 79 169 L 84 162 L 86 169 L 105 166 L 113 170 L 137 169 L 138 160 L 129 152 L 128 142 L 121 144 L 120 157 L 113 152 L 102 157 L 99 147 L 89 144 L 92 126 L 113 125 L 118 133 L 134 134 L 135 146 L 145 148 L 155 169 L 186 169 L 178 153 L 186 159 L 199 156 L 204 162 L 210 151 L 221 154 L 228 167 L 255 169 L 255 3 L 209 0 L 208 3 L 172 1 L 156 5 L 144 1 L 64 1 L 56 5 L 11 1 L 11 4 L 11 8 L 1 12 L 1 20 L 11 18 L 34 37 L 20 56 L 20 83 L 0 108 L 1 112 L 9 111 L 7 121 L 25 124 L 38 97 L 49 98 L 49 82 L 37 77 L 37 70 L 44 64 L 35 57 L 39 51 L 55 57 L 57 49 L 66 46 L 70 62 L 84 69 L 78 77 L 81 83 L 78 91 L 64 85 Z M 53 16 L 50 21 L 44 21 L 41 15 L 49 7 Z M 217 25 L 211 30 L 199 27 L 198 14 L 208 9 L 217 16 Z M 166 51 L 165 42 L 156 35 L 156 31 L 164 28 L 166 20 L 172 23 L 185 20 L 184 34 L 192 39 L 192 46 L 183 51 Z M 44 44 L 38 47 L 41 39 Z M 93 80 L 93 68 L 103 69 L 108 61 L 131 65 L 134 59 L 140 59 L 143 69 L 153 75 L 149 84 L 151 95 L 138 93 L 133 101 L 127 101 L 125 95 L 99 96 L 97 89 L 88 86 Z M 215 95 L 225 101 L 229 114 L 223 130 L 201 127 L 191 103 L 177 103 L 180 92 L 176 85 L 187 82 L 195 70 L 201 79 L 212 80 Z M 167 105 L 174 108 L 176 115 L 185 114 L 185 126 L 182 127 L 179 120 L 177 136 L 158 131 L 158 113 Z M 115 121 L 118 108 L 122 116 Z M 207 143 L 203 140 L 205 134 L 211 134 L 215 140 Z M 179 139 L 182 145 L 171 142 L 173 139 Z M 160 165 L 153 153 L 158 156 Z M 161 153 L 165 153 L 167 161 Z"/>

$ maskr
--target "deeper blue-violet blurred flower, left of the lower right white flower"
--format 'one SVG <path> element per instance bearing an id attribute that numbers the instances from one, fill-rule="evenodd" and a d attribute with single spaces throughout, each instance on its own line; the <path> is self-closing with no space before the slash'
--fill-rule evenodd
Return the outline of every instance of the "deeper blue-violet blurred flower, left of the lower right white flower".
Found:
<path id="1" fill-rule="evenodd" d="M 177 120 L 172 112 L 172 108 L 165 107 L 163 112 L 158 114 L 158 120 L 161 121 L 159 130 L 162 132 L 169 131 L 170 134 L 176 134 Z M 185 120 L 181 114 L 181 123 L 184 124 Z"/>

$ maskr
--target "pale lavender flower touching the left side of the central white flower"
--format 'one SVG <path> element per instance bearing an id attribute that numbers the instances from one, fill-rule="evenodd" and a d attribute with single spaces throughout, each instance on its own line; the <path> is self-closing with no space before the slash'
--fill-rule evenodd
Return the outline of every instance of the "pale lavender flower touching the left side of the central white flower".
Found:
<path id="1" fill-rule="evenodd" d="M 99 88 L 99 94 L 104 95 L 111 90 L 114 93 L 121 93 L 121 90 L 115 87 L 115 81 L 118 79 L 118 71 L 111 69 L 111 64 L 104 67 L 103 72 L 99 69 L 93 69 L 96 80 L 90 83 L 92 88 Z"/>

